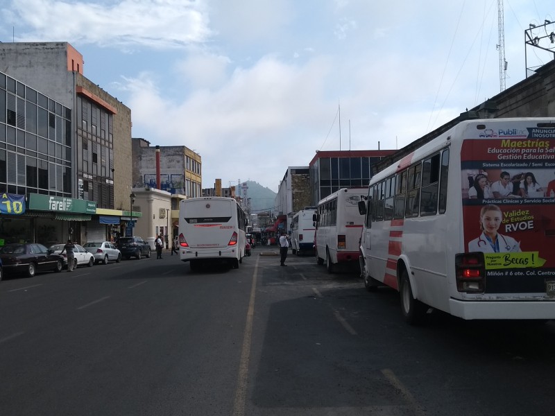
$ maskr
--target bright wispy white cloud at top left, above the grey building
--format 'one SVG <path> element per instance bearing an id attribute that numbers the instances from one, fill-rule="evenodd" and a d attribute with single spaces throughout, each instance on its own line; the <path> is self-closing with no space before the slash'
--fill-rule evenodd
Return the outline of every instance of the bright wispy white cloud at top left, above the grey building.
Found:
<path id="1" fill-rule="evenodd" d="M 19 42 L 68 41 L 99 46 L 175 48 L 210 37 L 203 1 L 17 0 L 6 12 L 10 23 L 23 21 Z"/>

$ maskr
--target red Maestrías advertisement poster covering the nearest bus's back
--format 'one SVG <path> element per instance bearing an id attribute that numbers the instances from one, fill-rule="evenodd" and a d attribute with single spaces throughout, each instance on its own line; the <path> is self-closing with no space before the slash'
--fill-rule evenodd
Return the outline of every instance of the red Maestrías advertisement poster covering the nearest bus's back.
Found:
<path id="1" fill-rule="evenodd" d="M 555 128 L 483 130 L 461 170 L 466 252 L 484 252 L 490 277 L 555 279 Z"/>

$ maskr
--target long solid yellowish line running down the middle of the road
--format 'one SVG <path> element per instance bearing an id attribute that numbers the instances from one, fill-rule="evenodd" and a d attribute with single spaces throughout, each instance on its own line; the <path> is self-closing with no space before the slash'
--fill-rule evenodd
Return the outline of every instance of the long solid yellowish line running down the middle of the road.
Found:
<path id="1" fill-rule="evenodd" d="M 255 270 L 253 271 L 253 284 L 250 286 L 250 299 L 248 301 L 247 320 L 245 333 L 243 335 L 239 375 L 237 376 L 237 389 L 235 390 L 233 416 L 243 416 L 245 414 L 245 401 L 248 383 L 248 360 L 250 358 L 250 343 L 253 338 L 253 318 L 255 315 L 255 294 L 259 259 L 260 257 L 257 257 L 256 259 Z"/>

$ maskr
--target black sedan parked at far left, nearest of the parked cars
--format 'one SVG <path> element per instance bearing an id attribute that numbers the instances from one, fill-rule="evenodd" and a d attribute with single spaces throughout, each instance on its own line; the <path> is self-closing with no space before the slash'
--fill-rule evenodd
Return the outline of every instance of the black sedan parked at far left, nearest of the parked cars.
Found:
<path id="1" fill-rule="evenodd" d="M 64 266 L 62 256 L 38 243 L 6 244 L 0 248 L 0 259 L 7 275 L 25 273 L 33 277 L 37 272 L 60 272 Z"/>

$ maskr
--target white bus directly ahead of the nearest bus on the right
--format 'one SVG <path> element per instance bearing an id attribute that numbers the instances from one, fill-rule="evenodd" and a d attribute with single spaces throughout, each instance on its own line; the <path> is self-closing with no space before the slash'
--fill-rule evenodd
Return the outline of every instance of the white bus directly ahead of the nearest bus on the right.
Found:
<path id="1" fill-rule="evenodd" d="M 328 272 L 337 263 L 358 261 L 359 241 L 364 215 L 358 203 L 368 193 L 367 188 L 343 188 L 318 202 L 316 222 L 316 261 L 325 262 Z"/>

